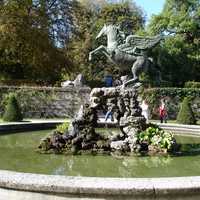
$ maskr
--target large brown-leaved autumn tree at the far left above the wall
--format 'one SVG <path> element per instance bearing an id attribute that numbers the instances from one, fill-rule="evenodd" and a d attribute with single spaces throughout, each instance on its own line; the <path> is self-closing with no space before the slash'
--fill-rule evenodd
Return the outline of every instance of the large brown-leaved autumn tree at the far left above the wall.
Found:
<path id="1" fill-rule="evenodd" d="M 69 71 L 70 62 L 60 48 L 72 30 L 70 7 L 64 2 L 68 1 L 2 3 L 0 70 L 4 77 L 54 83 L 63 69 Z"/>

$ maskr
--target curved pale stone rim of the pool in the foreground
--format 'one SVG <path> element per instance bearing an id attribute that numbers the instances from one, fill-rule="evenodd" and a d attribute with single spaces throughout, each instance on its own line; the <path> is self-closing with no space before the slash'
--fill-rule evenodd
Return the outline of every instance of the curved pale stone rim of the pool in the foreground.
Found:
<path id="1" fill-rule="evenodd" d="M 0 188 L 68 195 L 165 196 L 200 194 L 200 176 L 99 178 L 43 175 L 0 170 Z"/>

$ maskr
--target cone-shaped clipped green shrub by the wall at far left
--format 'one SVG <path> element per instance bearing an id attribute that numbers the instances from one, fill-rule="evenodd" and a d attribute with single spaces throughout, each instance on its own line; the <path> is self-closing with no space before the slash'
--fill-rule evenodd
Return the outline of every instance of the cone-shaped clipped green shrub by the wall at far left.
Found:
<path id="1" fill-rule="evenodd" d="M 3 120 L 7 122 L 22 121 L 23 116 L 16 95 L 10 93 L 7 98 Z"/>

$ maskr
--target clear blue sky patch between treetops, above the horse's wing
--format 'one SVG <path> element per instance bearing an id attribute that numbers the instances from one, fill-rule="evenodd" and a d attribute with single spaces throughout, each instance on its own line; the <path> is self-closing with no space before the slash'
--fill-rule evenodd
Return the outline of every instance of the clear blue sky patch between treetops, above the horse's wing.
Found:
<path id="1" fill-rule="evenodd" d="M 158 14 L 162 11 L 165 0 L 134 0 L 147 15 L 147 20 L 150 19 L 152 14 Z"/>

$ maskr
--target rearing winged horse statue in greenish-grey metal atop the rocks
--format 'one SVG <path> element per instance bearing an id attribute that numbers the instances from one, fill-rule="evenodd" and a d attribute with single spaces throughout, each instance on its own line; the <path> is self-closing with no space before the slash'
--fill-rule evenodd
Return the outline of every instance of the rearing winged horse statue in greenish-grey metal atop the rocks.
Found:
<path id="1" fill-rule="evenodd" d="M 89 60 L 98 53 L 103 53 L 111 62 L 118 66 L 132 67 L 133 77 L 123 83 L 123 86 L 139 83 L 139 75 L 150 66 L 151 59 L 147 51 L 155 47 L 162 39 L 162 36 L 141 37 L 129 35 L 120 31 L 119 26 L 104 24 L 96 39 L 102 35 L 107 36 L 107 46 L 99 46 L 89 53 Z"/>

